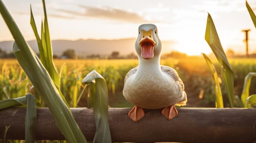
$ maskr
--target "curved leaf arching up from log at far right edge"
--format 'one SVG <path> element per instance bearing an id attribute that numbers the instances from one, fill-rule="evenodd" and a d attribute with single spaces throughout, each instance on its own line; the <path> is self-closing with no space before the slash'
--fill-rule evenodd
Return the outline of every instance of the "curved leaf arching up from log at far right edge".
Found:
<path id="1" fill-rule="evenodd" d="M 246 99 L 249 97 L 249 89 L 251 86 L 251 81 L 252 81 L 252 77 L 256 76 L 256 73 L 248 73 L 248 75 L 246 75 L 245 77 L 245 82 L 244 82 L 244 87 L 243 87 L 243 92 L 241 95 L 241 100 L 243 102 L 243 107 L 246 107 Z M 250 108 L 251 106 L 249 105 L 248 108 Z"/>

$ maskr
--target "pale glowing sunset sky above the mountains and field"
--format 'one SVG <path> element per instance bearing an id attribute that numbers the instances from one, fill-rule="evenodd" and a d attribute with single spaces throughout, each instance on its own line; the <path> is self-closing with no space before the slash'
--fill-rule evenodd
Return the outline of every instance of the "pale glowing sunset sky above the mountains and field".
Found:
<path id="1" fill-rule="evenodd" d="M 2 0 L 26 40 L 34 40 L 29 24 L 30 7 L 37 28 L 43 17 L 41 0 Z M 224 50 L 232 48 L 245 53 L 245 34 L 249 32 L 249 53 L 256 53 L 256 29 L 245 6 L 245 0 L 46 0 L 52 40 L 121 39 L 137 37 L 140 24 L 158 27 L 161 40 L 188 55 L 210 53 L 204 33 L 209 12 Z M 256 0 L 248 0 L 256 9 Z M 0 18 L 0 41 L 12 36 Z"/>

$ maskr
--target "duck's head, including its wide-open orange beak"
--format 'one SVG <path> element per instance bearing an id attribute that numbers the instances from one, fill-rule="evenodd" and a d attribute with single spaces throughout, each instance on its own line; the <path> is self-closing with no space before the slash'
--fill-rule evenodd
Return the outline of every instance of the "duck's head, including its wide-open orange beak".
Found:
<path id="1" fill-rule="evenodd" d="M 157 26 L 154 24 L 139 26 L 135 49 L 139 58 L 153 59 L 154 57 L 160 57 L 162 45 L 158 37 Z"/>

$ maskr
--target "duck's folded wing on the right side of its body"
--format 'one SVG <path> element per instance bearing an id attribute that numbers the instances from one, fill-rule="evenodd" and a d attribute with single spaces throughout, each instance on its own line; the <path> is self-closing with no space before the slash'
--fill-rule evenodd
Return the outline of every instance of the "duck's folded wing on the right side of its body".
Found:
<path id="1" fill-rule="evenodd" d="M 177 93 L 178 95 L 180 95 L 180 101 L 179 103 L 177 103 L 176 105 L 177 106 L 184 106 L 186 105 L 186 102 L 187 102 L 187 97 L 186 97 L 186 92 L 184 91 L 184 84 L 182 82 L 182 80 L 180 79 L 177 71 L 169 66 L 162 66 L 161 65 L 161 70 L 162 72 L 170 75 L 174 81 L 176 81 L 177 83 L 177 90 L 179 90 Z"/>

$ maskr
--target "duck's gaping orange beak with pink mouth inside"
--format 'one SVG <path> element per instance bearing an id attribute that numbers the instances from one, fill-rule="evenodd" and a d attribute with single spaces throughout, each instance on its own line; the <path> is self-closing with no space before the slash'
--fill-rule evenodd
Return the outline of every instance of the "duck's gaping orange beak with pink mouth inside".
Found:
<path id="1" fill-rule="evenodd" d="M 141 47 L 141 57 L 144 59 L 152 59 L 154 57 L 155 41 L 152 30 L 141 31 L 141 40 L 139 42 Z"/>

